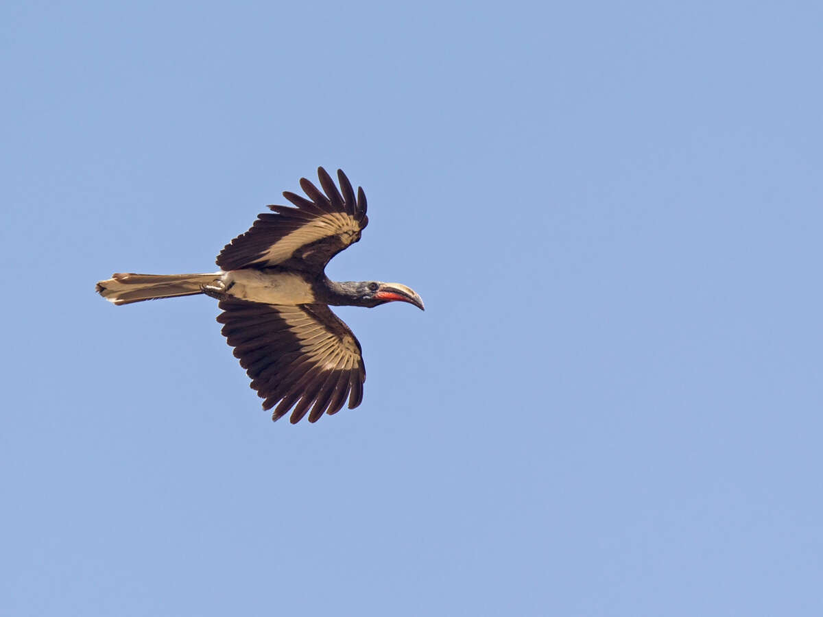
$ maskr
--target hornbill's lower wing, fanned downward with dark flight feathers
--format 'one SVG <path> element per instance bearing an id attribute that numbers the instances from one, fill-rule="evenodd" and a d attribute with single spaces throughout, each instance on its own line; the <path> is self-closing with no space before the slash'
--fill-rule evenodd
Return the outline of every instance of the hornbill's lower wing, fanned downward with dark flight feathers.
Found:
<path id="1" fill-rule="evenodd" d="M 316 422 L 323 413 L 340 411 L 349 401 L 363 401 L 365 364 L 360 343 L 325 304 L 258 304 L 222 300 L 217 321 L 235 357 L 252 379 L 251 387 L 271 409 L 272 420 L 291 412 L 292 424 L 309 413 Z M 309 408 L 311 411 L 309 411 Z"/>

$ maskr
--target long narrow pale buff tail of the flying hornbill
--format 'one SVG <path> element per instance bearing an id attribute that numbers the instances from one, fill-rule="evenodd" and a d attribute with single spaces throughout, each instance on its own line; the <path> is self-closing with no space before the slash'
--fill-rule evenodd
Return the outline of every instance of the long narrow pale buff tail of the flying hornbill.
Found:
<path id="1" fill-rule="evenodd" d="M 95 285 L 95 290 L 114 304 L 132 304 L 142 300 L 176 298 L 181 295 L 202 294 L 201 285 L 219 279 L 214 274 L 131 274 L 116 273 Z"/>

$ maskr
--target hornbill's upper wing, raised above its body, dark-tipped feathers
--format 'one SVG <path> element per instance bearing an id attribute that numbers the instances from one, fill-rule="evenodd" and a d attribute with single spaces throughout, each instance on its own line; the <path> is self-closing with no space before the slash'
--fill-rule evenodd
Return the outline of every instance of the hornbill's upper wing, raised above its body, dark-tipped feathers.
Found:
<path id="1" fill-rule="evenodd" d="M 320 167 L 317 174 L 325 194 L 301 178 L 300 188 L 309 199 L 284 192 L 296 207 L 268 206 L 272 213 L 259 215 L 249 231 L 226 244 L 217 265 L 222 270 L 285 265 L 319 272 L 329 259 L 356 243 L 369 223 L 363 189 L 357 188 L 355 198 L 342 169 L 337 170 L 340 191 L 325 169 Z"/>

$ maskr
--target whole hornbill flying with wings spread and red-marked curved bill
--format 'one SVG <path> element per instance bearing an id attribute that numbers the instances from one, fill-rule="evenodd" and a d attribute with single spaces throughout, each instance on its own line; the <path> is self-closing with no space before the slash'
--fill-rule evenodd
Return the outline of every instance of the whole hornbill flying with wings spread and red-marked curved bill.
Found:
<path id="1" fill-rule="evenodd" d="M 217 321 L 235 357 L 263 398 L 263 409 L 292 424 L 306 414 L 316 422 L 363 401 L 365 364 L 360 342 L 329 306 L 374 307 L 423 300 L 406 285 L 380 281 L 331 281 L 329 260 L 356 243 L 369 223 L 362 188 L 355 196 L 337 170 L 338 190 L 318 170 L 321 192 L 300 179 L 308 199 L 286 191 L 292 206 L 268 206 L 251 229 L 226 244 L 212 274 L 117 273 L 96 285 L 114 304 L 205 294 L 218 300 Z"/>

